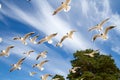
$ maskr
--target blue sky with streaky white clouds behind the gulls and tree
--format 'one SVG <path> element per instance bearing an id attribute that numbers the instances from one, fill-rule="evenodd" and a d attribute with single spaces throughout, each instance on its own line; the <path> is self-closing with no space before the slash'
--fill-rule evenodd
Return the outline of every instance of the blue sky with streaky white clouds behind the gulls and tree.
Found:
<path id="1" fill-rule="evenodd" d="M 0 9 L 0 37 L 3 42 L 0 43 L 0 50 L 9 45 L 15 45 L 11 50 L 10 56 L 0 57 L 0 79 L 1 80 L 40 80 L 40 76 L 46 73 L 67 75 L 71 68 L 70 60 L 73 59 L 73 53 L 76 50 L 100 49 L 103 54 L 111 54 L 116 65 L 120 68 L 120 10 L 119 0 L 72 0 L 71 10 L 69 12 L 60 12 L 52 16 L 53 11 L 64 0 L 0 0 L 2 8 Z M 117 27 L 108 34 L 109 39 L 104 41 L 97 39 L 94 43 L 91 38 L 96 31 L 88 32 L 88 29 L 103 19 L 110 17 L 110 20 L 104 25 L 116 25 Z M 55 47 L 56 42 L 69 32 L 77 30 L 73 40 L 66 40 L 63 47 Z M 16 35 L 23 36 L 28 32 L 34 31 L 40 34 L 38 40 L 54 32 L 58 35 L 53 39 L 53 44 L 44 43 L 33 45 L 29 41 L 27 46 L 19 41 L 13 41 Z M 33 35 L 34 36 L 34 35 Z M 27 58 L 22 65 L 21 71 L 9 73 L 10 64 L 16 63 L 29 50 L 35 50 L 32 56 Z M 45 70 L 40 72 L 32 69 L 32 64 L 42 61 L 35 61 L 37 54 L 43 50 L 48 50 Z M 36 71 L 37 75 L 29 77 L 28 72 Z M 21 77 L 22 76 L 22 77 Z"/>

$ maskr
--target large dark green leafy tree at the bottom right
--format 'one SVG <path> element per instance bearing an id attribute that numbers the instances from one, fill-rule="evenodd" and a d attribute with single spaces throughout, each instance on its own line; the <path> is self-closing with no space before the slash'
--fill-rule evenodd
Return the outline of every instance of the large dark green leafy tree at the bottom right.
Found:
<path id="1" fill-rule="evenodd" d="M 120 70 L 115 65 L 114 60 L 109 55 L 100 55 L 99 52 L 94 57 L 86 56 L 93 52 L 92 49 L 77 51 L 73 54 L 72 67 L 80 67 L 75 73 L 70 72 L 69 80 L 118 80 Z"/>

